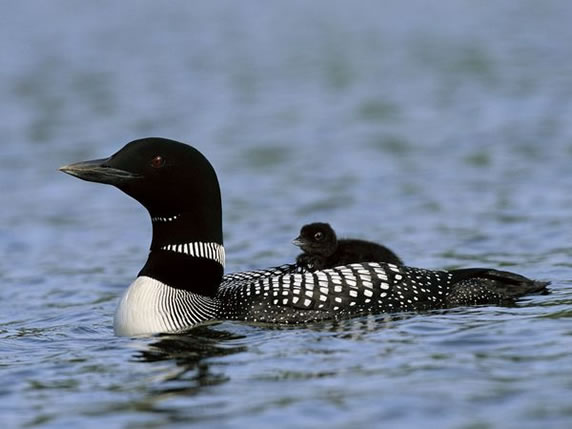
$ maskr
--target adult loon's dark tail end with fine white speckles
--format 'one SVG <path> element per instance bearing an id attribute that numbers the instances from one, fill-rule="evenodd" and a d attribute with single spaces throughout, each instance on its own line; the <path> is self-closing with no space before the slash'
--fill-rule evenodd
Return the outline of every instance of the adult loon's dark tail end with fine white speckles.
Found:
<path id="1" fill-rule="evenodd" d="M 490 268 L 450 271 L 453 290 L 447 297 L 451 307 L 480 304 L 513 304 L 529 294 L 547 294 L 550 282 L 532 280 L 520 274 Z"/>

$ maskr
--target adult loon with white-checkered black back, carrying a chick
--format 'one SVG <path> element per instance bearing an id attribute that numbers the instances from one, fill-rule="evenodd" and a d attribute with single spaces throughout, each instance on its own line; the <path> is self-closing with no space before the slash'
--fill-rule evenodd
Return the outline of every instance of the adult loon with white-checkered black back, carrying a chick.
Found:
<path id="1" fill-rule="evenodd" d="M 317 272 L 295 264 L 223 276 L 216 173 L 196 149 L 163 138 L 60 168 L 114 185 L 149 212 L 149 256 L 114 316 L 117 335 L 184 332 L 216 320 L 307 323 L 368 313 L 512 302 L 547 283 L 490 269 L 430 271 L 364 262 Z"/>

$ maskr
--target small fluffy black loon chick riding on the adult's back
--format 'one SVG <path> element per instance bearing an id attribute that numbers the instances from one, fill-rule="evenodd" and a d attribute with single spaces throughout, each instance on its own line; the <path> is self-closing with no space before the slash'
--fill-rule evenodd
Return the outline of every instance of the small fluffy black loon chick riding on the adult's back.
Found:
<path id="1" fill-rule="evenodd" d="M 311 271 L 333 268 L 355 262 L 387 262 L 403 265 L 403 261 L 381 244 L 356 239 L 338 240 L 329 223 L 315 222 L 304 225 L 293 244 L 304 253 L 296 258 L 296 263 Z"/>

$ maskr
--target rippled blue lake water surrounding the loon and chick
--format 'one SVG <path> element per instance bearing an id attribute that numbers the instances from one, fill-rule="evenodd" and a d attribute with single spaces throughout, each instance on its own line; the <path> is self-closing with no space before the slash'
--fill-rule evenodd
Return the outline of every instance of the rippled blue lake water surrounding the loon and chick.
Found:
<path id="1" fill-rule="evenodd" d="M 571 427 L 571 20 L 565 0 L 4 2 L 2 426 Z M 149 219 L 57 168 L 144 136 L 215 166 L 228 272 L 327 221 L 553 293 L 116 338 Z"/>

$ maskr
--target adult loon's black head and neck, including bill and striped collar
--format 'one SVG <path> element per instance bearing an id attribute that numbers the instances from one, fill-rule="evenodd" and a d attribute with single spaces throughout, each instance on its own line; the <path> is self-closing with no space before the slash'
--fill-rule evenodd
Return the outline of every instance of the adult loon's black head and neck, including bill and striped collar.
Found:
<path id="1" fill-rule="evenodd" d="M 214 293 L 224 267 L 220 189 L 212 165 L 198 150 L 173 140 L 144 138 L 109 158 L 60 170 L 114 185 L 147 208 L 153 240 L 140 275 L 203 295 Z"/>

